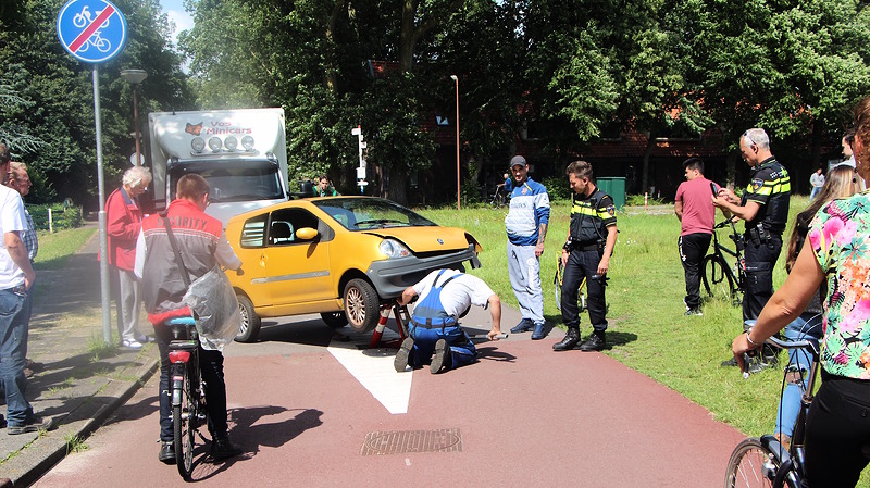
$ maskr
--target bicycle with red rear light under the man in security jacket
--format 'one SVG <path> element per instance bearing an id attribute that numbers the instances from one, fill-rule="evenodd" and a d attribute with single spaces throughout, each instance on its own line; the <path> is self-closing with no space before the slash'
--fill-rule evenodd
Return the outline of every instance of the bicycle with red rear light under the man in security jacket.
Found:
<path id="1" fill-rule="evenodd" d="M 207 425 L 206 383 L 199 370 L 199 335 L 192 317 L 171 318 L 166 326 L 172 329 L 173 340 L 169 345 L 172 363 L 172 424 L 175 429 L 175 461 L 178 474 L 189 481 L 194 468 L 196 437 L 204 445 L 199 427 Z"/>

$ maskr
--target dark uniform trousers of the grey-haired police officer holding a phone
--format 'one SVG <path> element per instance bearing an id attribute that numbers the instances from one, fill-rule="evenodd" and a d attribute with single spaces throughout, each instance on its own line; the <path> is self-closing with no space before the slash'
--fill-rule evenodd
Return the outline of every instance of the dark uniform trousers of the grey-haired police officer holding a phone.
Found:
<path id="1" fill-rule="evenodd" d="M 773 266 L 782 249 L 782 237 L 770 234 L 770 239 L 758 243 L 744 235 L 746 260 L 746 289 L 743 293 L 743 320 L 758 318 L 770 297 L 773 296 Z"/>

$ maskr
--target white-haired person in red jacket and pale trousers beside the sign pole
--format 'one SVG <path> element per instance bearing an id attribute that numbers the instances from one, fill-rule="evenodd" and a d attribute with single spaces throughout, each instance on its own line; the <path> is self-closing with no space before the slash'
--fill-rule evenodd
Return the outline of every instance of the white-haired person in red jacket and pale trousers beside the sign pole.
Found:
<path id="1" fill-rule="evenodd" d="M 121 180 L 121 188 L 105 200 L 109 264 L 114 271 L 115 308 L 121 346 L 141 349 L 147 336 L 139 331 L 139 283 L 133 273 L 136 260 L 136 239 L 141 229 L 142 212 L 138 197 L 151 183 L 151 173 L 133 166 Z"/>

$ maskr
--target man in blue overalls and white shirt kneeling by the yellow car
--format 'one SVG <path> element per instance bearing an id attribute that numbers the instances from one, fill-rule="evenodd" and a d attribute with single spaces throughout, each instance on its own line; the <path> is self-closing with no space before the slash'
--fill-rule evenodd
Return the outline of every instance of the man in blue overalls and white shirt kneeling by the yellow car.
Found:
<path id="1" fill-rule="evenodd" d="M 421 299 L 411 314 L 410 337 L 402 341 L 393 362 L 397 372 L 403 372 L 407 365 L 422 367 L 430 359 L 433 374 L 474 362 L 477 351 L 459 326 L 459 318 L 472 304 L 489 306 L 493 328 L 486 336 L 489 340 L 499 339 L 501 300 L 483 279 L 456 270 L 435 270 L 417 285 L 408 287 L 401 293 L 399 304 L 407 305 L 417 296 Z"/>

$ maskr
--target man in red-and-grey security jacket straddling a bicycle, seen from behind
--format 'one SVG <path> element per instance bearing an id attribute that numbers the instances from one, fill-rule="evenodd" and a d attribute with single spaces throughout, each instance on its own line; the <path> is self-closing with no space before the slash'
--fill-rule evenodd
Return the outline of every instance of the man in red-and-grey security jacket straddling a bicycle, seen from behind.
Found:
<path id="1" fill-rule="evenodd" d="M 190 309 L 183 298 L 187 286 L 182 278 L 179 263 L 172 250 L 163 220 L 169 220 L 172 234 L 177 241 L 184 266 L 194 281 L 216 264 L 229 270 L 240 270 L 239 261 L 224 236 L 221 221 L 206 215 L 209 205 L 209 183 L 200 175 L 187 174 L 178 179 L 175 198 L 166 209 L 165 217 L 149 215 L 142 221 L 142 230 L 136 242 L 136 276 L 142 278 L 142 303 L 148 321 L 154 325 L 154 338 L 160 350 L 160 440 L 158 459 L 175 463 L 173 446 L 172 399 L 169 396 L 170 368 L 169 343 L 172 330 L 163 323 L 169 318 L 190 316 Z M 148 266 L 145 266 L 148 263 Z M 199 365 L 206 389 L 206 405 L 209 410 L 209 431 L 212 436 L 211 453 L 215 460 L 224 460 L 241 453 L 238 446 L 229 441 L 226 421 L 226 384 L 224 383 L 224 356 L 221 351 L 199 348 Z"/>

